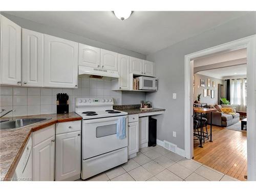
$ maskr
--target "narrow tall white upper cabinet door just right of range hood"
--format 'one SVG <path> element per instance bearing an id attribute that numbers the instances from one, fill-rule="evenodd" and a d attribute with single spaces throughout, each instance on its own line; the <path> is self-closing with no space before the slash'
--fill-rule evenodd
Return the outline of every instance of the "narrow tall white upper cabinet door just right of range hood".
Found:
<path id="1" fill-rule="evenodd" d="M 130 56 L 118 54 L 119 89 L 130 90 Z"/>

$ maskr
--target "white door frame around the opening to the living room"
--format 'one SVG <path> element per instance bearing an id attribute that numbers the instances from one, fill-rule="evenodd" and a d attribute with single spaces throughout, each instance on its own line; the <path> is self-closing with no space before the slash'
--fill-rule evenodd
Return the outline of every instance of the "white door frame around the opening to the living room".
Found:
<path id="1" fill-rule="evenodd" d="M 193 157 L 193 75 L 197 57 L 219 52 L 247 49 L 247 172 L 248 180 L 256 180 L 256 35 L 227 42 L 202 51 L 185 55 L 185 157 Z M 213 136 L 214 140 L 214 136 Z"/>

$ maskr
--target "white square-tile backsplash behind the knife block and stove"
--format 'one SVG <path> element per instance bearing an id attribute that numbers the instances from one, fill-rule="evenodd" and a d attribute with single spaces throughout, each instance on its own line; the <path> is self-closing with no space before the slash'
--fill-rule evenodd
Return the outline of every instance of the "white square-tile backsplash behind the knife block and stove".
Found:
<path id="1" fill-rule="evenodd" d="M 0 87 L 0 109 L 16 112 L 7 116 L 38 115 L 56 113 L 56 94 L 69 95 L 69 110 L 75 111 L 77 97 L 112 97 L 114 104 L 122 103 L 122 92 L 111 91 L 110 78 L 78 78 L 77 89 Z"/>

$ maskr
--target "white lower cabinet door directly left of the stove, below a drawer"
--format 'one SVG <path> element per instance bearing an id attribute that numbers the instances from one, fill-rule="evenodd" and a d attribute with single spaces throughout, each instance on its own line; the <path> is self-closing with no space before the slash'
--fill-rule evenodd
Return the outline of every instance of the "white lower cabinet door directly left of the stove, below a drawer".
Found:
<path id="1" fill-rule="evenodd" d="M 55 180 L 76 180 L 81 173 L 81 132 L 56 135 Z"/>

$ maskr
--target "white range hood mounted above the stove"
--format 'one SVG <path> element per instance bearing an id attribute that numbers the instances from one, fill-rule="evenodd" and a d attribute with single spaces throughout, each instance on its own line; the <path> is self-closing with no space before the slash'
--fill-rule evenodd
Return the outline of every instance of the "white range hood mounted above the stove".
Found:
<path id="1" fill-rule="evenodd" d="M 97 75 L 103 77 L 119 78 L 118 71 L 90 68 L 85 66 L 78 66 L 78 75 Z"/>

